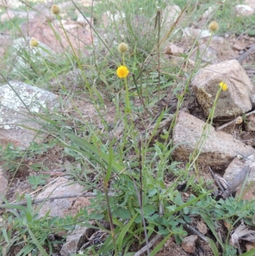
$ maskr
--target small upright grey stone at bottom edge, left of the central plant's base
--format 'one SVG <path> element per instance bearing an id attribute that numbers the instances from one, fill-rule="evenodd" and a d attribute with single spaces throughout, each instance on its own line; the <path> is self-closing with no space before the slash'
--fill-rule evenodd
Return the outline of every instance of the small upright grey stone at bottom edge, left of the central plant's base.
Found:
<path id="1" fill-rule="evenodd" d="M 76 253 L 85 242 L 87 242 L 87 237 L 91 236 L 92 229 L 87 227 L 76 226 L 75 230 L 68 234 L 66 237 L 66 243 L 61 248 L 62 256 L 69 256 Z"/>

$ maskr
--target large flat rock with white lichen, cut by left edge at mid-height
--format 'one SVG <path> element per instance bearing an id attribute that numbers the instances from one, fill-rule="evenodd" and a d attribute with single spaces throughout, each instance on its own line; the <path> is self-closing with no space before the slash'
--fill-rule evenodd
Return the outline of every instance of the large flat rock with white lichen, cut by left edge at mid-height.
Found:
<path id="1" fill-rule="evenodd" d="M 36 123 L 36 117 L 31 116 L 29 111 L 40 113 L 42 107 L 54 107 L 57 105 L 57 96 L 23 82 L 10 82 L 10 85 L 0 86 L 0 144 L 6 145 L 11 142 L 21 149 L 26 149 L 33 140 L 40 143 L 44 139 L 43 134 L 38 134 L 34 138 L 41 124 Z M 27 121 L 31 118 L 35 121 Z"/>

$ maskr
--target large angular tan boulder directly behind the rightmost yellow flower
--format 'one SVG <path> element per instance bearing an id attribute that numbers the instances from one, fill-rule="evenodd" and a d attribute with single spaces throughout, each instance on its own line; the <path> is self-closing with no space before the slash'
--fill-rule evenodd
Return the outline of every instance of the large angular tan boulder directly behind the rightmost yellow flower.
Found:
<path id="1" fill-rule="evenodd" d="M 196 98 L 207 116 L 220 82 L 227 84 L 228 90 L 221 91 L 214 117 L 238 116 L 252 109 L 254 86 L 240 63 L 232 59 L 200 69 L 192 80 Z"/>

